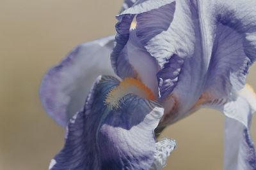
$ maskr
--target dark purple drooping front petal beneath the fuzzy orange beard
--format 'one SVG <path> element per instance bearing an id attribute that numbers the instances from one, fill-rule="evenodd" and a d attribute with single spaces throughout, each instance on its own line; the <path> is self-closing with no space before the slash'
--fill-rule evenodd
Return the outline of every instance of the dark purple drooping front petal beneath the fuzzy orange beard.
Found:
<path id="1" fill-rule="evenodd" d="M 154 129 L 163 108 L 133 94 L 123 98 L 120 108 L 110 108 L 104 101 L 118 84 L 111 76 L 97 79 L 84 110 L 70 119 L 65 146 L 52 160 L 52 170 L 150 168 L 157 150 Z M 170 155 L 172 148 L 165 151 Z"/>

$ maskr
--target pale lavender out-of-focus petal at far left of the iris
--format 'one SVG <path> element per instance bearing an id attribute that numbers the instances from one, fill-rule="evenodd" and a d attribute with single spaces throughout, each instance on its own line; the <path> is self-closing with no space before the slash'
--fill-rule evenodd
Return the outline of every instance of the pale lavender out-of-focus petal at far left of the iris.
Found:
<path id="1" fill-rule="evenodd" d="M 62 127 L 81 108 L 99 74 L 114 75 L 109 61 L 114 36 L 77 46 L 45 74 L 40 99 L 45 111 Z"/>

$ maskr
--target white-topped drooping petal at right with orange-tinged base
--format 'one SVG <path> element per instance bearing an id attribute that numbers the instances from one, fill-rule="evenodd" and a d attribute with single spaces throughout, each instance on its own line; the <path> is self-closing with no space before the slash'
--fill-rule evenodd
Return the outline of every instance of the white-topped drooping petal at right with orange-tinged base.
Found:
<path id="1" fill-rule="evenodd" d="M 208 92 L 198 106 L 209 106 L 224 113 L 225 117 L 225 170 L 256 169 L 255 147 L 250 136 L 250 124 L 256 111 L 256 96 L 248 85 L 233 96 L 216 99 Z"/>

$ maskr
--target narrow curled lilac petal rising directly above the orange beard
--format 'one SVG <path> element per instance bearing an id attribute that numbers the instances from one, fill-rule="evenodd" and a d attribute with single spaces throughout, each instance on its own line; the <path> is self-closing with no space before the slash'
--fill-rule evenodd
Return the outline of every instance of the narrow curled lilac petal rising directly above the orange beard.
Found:
<path id="1" fill-rule="evenodd" d="M 116 46 L 111 54 L 112 66 L 121 78 L 133 77 L 140 79 L 157 96 L 156 73 L 159 70 L 156 59 L 152 57 L 140 43 L 136 31 L 131 31 L 131 23 L 135 15 L 155 9 L 173 1 L 137 1 L 134 6 L 117 16 Z M 146 28 L 147 29 L 147 28 Z"/>

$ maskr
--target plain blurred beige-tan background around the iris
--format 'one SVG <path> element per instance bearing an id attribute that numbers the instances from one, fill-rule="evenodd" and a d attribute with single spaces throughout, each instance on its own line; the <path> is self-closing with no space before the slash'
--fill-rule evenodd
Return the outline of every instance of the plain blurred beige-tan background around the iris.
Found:
<path id="1" fill-rule="evenodd" d="M 42 109 L 45 71 L 74 46 L 115 34 L 122 1 L 1 0 L 0 169 L 47 169 L 64 143 L 64 129 Z M 252 67 L 248 83 L 256 89 Z M 202 109 L 171 125 L 161 138 L 177 140 L 164 169 L 222 169 L 223 115 Z M 255 117 L 252 136 L 256 141 Z"/>

